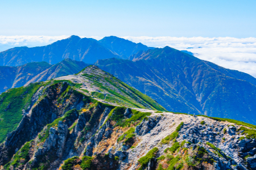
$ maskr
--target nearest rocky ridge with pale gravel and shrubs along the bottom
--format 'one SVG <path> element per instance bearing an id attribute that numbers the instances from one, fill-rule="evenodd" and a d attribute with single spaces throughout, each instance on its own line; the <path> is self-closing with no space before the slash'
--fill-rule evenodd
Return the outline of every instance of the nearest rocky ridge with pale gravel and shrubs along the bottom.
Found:
<path id="1" fill-rule="evenodd" d="M 89 112 L 98 116 L 93 126 L 91 118 L 86 118 Z M 40 137 L 46 131 L 44 128 L 24 145 L 30 146 L 25 162 L 15 162 L 14 156 L 3 169 L 13 169 L 14 165 L 19 165 L 18 169 L 36 166 L 104 169 L 102 165 L 108 167 L 105 169 L 255 169 L 256 130 L 253 128 L 202 116 L 151 110 L 139 112 L 148 116 L 127 126 L 118 124 L 120 121 L 114 118 L 115 114 L 132 118 L 138 112 L 101 104 L 86 112 L 69 111 L 63 119 L 50 124 L 51 128 L 47 125 L 48 138 L 42 141 L 44 137 Z M 127 120 L 123 117 L 121 122 Z M 75 126 L 72 122 L 76 122 Z M 85 133 L 88 125 L 93 128 Z M 243 133 L 248 130 L 254 135 Z M 15 155 L 21 154 L 24 146 Z M 148 159 L 151 151 L 154 152 Z M 84 160 L 88 163 L 86 168 L 83 168 Z M 47 165 L 47 161 L 51 163 Z"/>

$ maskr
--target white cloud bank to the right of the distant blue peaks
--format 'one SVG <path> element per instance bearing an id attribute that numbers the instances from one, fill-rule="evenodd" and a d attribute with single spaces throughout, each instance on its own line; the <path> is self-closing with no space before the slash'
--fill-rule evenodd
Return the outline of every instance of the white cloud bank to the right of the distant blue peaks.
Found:
<path id="1" fill-rule="evenodd" d="M 170 46 L 188 50 L 197 58 L 222 67 L 238 70 L 256 78 L 256 38 L 237 39 L 233 37 L 122 37 L 147 46 L 163 48 Z M 200 48 L 199 48 L 200 47 Z M 191 48 L 191 49 L 187 49 Z"/>

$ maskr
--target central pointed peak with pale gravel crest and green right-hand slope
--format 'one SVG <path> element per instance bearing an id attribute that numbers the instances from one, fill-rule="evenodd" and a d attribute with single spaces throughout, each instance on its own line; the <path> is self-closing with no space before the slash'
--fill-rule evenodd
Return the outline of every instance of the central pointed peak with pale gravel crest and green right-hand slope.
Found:
<path id="1" fill-rule="evenodd" d="M 117 105 L 166 111 L 155 100 L 128 86 L 97 66 L 88 66 L 79 74 L 63 76 L 56 78 L 56 80 L 70 80 L 73 83 L 83 84 L 83 86 L 77 88 L 89 90 L 90 94 L 88 95 Z"/>

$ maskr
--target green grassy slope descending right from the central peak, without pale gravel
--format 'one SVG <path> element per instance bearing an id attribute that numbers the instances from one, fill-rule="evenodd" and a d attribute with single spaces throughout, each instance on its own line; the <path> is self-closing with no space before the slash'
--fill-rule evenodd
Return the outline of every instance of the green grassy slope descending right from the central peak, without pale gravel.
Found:
<path id="1" fill-rule="evenodd" d="M 142 92 L 139 92 L 135 88 L 130 87 L 126 83 L 123 83 L 121 80 L 115 78 L 113 75 L 101 74 L 101 72 L 105 73 L 105 71 L 102 71 L 100 69 L 92 69 L 93 71 L 95 71 L 95 74 L 87 74 L 86 70 L 90 69 L 90 67 L 92 66 L 88 66 L 84 70 L 82 70 L 84 71 L 84 73 L 80 71 L 80 74 L 82 76 L 85 76 L 87 79 L 93 81 L 94 86 L 100 87 L 101 90 L 107 91 L 109 94 L 112 94 L 112 96 L 106 96 L 104 98 L 98 92 L 93 92 L 92 95 L 94 97 L 98 97 L 99 99 L 105 99 L 106 101 L 117 103 L 120 105 L 125 104 L 129 107 L 134 108 L 146 108 L 144 106 L 147 105 L 148 107 L 154 110 L 156 109 L 158 111 L 166 111 L 166 109 L 163 108 L 160 104 L 156 103 L 155 100 L 151 99 L 147 95 L 142 94 Z M 102 79 L 102 76 L 104 77 L 104 79 Z M 111 84 L 114 87 L 114 89 L 102 84 L 105 82 Z M 137 101 L 140 101 L 141 103 L 138 103 Z"/>

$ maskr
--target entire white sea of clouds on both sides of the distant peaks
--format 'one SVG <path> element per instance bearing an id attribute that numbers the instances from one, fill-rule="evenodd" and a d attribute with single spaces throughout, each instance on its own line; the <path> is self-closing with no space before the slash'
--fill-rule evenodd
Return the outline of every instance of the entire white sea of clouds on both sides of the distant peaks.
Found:
<path id="1" fill-rule="evenodd" d="M 0 36 L 0 51 L 14 46 L 42 46 L 69 36 Z M 80 36 L 85 37 L 85 36 Z M 96 40 L 102 37 L 90 37 Z M 132 37 L 133 42 L 147 46 L 163 48 L 170 46 L 178 50 L 187 50 L 194 56 L 210 61 L 222 67 L 242 71 L 256 78 L 256 38 L 237 39 L 233 37 Z"/>

